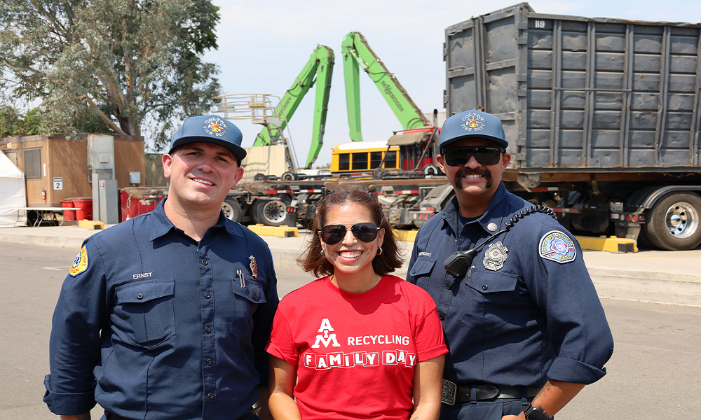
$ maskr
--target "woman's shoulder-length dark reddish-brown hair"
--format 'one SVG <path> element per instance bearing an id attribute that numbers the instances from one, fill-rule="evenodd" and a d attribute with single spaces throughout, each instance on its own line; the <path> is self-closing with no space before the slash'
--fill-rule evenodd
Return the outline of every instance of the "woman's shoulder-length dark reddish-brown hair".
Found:
<path id="1" fill-rule="evenodd" d="M 402 258 L 397 249 L 394 231 L 382 212 L 382 205 L 370 193 L 361 190 L 334 191 L 320 202 L 316 207 L 316 216 L 314 216 L 311 227 L 313 233 L 311 244 L 309 244 L 307 251 L 297 258 L 299 267 L 306 272 L 312 272 L 315 276 L 334 274 L 334 265 L 321 255 L 322 247 L 318 230 L 326 225 L 326 216 L 331 207 L 348 203 L 360 204 L 368 209 L 370 214 L 372 214 L 372 223 L 385 230 L 382 254 L 376 255 L 374 260 L 372 260 L 374 272 L 384 276 L 402 267 Z"/>

